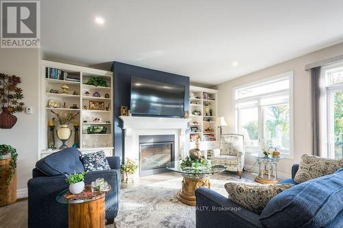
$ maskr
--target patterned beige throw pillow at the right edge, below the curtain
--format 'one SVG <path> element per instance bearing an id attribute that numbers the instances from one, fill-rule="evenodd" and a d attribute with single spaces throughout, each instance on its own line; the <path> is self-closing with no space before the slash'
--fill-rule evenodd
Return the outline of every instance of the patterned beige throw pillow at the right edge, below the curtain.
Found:
<path id="1" fill-rule="evenodd" d="M 294 177 L 294 182 L 303 183 L 310 179 L 330 175 L 342 167 L 343 160 L 334 160 L 304 154 L 301 156 L 299 169 Z"/>

